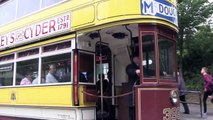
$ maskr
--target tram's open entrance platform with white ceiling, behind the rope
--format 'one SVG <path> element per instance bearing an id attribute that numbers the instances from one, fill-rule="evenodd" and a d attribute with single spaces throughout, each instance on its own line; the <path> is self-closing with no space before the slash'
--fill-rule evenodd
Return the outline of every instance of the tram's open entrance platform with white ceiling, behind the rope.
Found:
<path id="1" fill-rule="evenodd" d="M 104 99 L 107 99 L 109 105 L 109 120 L 122 120 L 123 116 L 125 120 L 129 118 L 129 94 L 126 93 L 131 91 L 126 88 L 126 66 L 131 63 L 132 53 L 138 51 L 137 41 L 138 24 L 108 27 L 78 36 L 78 49 L 95 54 L 94 85 L 97 86 L 100 73 L 108 81 L 109 87 L 103 96 L 107 97 Z M 91 88 L 94 90 L 94 86 Z M 95 97 L 99 99 L 100 96 Z"/>

